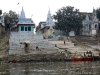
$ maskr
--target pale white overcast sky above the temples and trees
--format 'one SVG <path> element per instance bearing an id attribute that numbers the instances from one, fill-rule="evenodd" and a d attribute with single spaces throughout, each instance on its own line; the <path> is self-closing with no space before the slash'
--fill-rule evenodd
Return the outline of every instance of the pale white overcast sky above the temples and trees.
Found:
<path id="1" fill-rule="evenodd" d="M 3 12 L 13 10 L 20 13 L 23 6 L 26 17 L 30 18 L 33 14 L 32 19 L 36 25 L 40 21 L 46 21 L 49 7 L 53 15 L 58 9 L 68 5 L 82 12 L 92 12 L 93 7 L 100 7 L 100 0 L 0 0 L 0 9 Z"/>

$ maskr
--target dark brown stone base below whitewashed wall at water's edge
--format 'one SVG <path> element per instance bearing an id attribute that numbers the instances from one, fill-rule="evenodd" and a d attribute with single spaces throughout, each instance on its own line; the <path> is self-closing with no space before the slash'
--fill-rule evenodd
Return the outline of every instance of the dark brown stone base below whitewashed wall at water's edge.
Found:
<path id="1" fill-rule="evenodd" d="M 26 61 L 61 61 L 66 59 L 64 53 L 57 54 L 23 54 L 23 55 L 9 55 L 8 61 L 17 60 L 18 62 Z"/>

